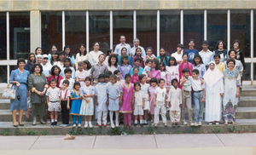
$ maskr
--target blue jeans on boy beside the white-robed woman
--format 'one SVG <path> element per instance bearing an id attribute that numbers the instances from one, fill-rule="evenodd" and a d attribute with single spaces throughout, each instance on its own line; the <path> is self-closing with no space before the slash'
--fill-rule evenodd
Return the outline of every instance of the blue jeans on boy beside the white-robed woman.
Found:
<path id="1" fill-rule="evenodd" d="M 203 112 L 204 112 L 204 104 L 201 102 L 203 97 L 203 91 L 194 92 L 194 101 L 195 101 L 195 110 L 194 110 L 194 122 L 202 122 L 203 120 Z"/>

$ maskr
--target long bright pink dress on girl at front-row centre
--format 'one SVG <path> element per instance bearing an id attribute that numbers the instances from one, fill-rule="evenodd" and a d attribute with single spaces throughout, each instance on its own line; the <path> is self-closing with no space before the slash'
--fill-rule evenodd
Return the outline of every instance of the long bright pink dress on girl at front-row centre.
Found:
<path id="1" fill-rule="evenodd" d="M 130 88 L 126 88 L 125 83 L 121 87 L 121 92 L 123 93 L 122 106 L 120 107 L 119 112 L 122 113 L 131 113 L 131 100 L 133 95 L 133 84 L 130 83 Z"/>

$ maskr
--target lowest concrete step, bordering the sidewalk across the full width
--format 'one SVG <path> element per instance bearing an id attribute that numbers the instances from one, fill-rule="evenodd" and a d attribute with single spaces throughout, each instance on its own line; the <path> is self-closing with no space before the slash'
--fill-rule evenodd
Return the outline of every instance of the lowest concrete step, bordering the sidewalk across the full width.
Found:
<path id="1" fill-rule="evenodd" d="M 149 125 L 144 125 L 143 128 L 139 125 L 137 127 L 132 126 L 132 129 L 125 129 L 123 125 L 119 125 L 118 129 L 111 129 L 108 124 L 107 127 L 99 128 L 96 126 L 96 122 L 92 122 L 94 127 L 92 129 L 84 129 L 84 122 L 82 122 L 82 132 L 84 135 L 120 135 L 124 130 L 126 133 L 130 134 L 195 134 L 195 133 L 243 133 L 243 132 L 256 132 L 256 119 L 237 119 L 236 125 L 224 125 L 220 122 L 219 125 L 209 125 L 208 123 L 203 123 L 200 127 L 191 127 L 189 125 L 181 125 L 180 127 L 172 127 L 172 123 L 168 121 L 168 126 L 164 127 L 160 122 L 158 127 L 151 127 Z M 23 127 L 13 127 L 12 122 L 0 122 L 0 135 L 66 135 L 70 131 L 77 131 L 78 128 L 73 128 L 73 124 L 70 126 L 62 128 L 59 126 L 52 127 L 49 124 L 37 124 L 32 126 L 31 122 L 23 122 L 25 126 Z M 149 123 L 149 121 L 148 121 Z M 61 124 L 59 122 L 58 124 Z M 150 133 L 149 133 L 150 132 Z"/>

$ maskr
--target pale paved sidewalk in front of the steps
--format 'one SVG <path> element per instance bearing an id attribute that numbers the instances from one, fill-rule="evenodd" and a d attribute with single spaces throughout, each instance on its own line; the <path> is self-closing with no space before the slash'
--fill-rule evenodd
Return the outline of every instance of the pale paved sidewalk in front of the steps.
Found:
<path id="1" fill-rule="evenodd" d="M 256 134 L 0 136 L 0 154 L 256 154 Z M 158 153 L 159 152 L 159 153 Z M 214 153 L 213 153 L 214 152 Z M 22 154 L 21 153 L 21 154 Z"/>

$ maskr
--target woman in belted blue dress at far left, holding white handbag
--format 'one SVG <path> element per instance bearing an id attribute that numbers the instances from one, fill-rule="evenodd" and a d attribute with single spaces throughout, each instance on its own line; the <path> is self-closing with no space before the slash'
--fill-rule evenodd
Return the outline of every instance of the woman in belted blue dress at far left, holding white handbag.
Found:
<path id="1" fill-rule="evenodd" d="M 9 83 L 13 83 L 16 90 L 15 100 L 10 100 L 10 111 L 13 116 L 13 125 L 17 126 L 16 112 L 19 111 L 19 125 L 24 126 L 22 123 L 23 112 L 27 110 L 27 78 L 29 72 L 24 70 L 26 61 L 23 58 L 18 59 L 18 69 L 11 72 Z M 20 96 L 20 97 L 19 97 Z"/>

